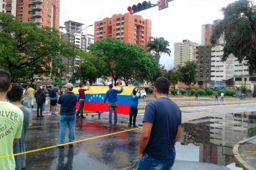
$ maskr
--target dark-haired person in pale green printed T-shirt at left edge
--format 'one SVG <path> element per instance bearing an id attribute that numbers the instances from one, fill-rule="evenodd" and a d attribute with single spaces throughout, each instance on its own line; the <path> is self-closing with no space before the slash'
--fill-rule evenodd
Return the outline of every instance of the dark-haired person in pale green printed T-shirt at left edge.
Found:
<path id="1" fill-rule="evenodd" d="M 13 143 L 21 138 L 23 127 L 24 116 L 21 109 L 6 101 L 7 92 L 11 89 L 10 74 L 0 70 L 0 156 L 13 154 Z M 15 157 L 0 159 L 0 169 L 15 169 Z"/>

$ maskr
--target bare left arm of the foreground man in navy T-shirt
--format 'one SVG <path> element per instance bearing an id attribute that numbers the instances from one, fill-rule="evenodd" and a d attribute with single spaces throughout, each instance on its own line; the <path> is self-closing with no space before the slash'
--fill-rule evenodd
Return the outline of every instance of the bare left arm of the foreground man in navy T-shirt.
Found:
<path id="1" fill-rule="evenodd" d="M 143 152 L 145 151 L 147 144 L 149 143 L 152 127 L 153 127 L 152 123 L 148 123 L 148 122 L 143 123 L 143 132 L 140 136 L 140 147 L 139 147 L 140 160 L 143 158 Z"/>

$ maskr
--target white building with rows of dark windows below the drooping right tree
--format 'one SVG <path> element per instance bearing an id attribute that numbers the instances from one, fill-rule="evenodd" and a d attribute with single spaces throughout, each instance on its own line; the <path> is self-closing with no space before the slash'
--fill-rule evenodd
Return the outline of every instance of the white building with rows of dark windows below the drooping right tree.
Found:
<path id="1" fill-rule="evenodd" d="M 211 82 L 223 82 L 234 77 L 245 77 L 249 75 L 246 61 L 239 63 L 237 58 L 230 54 L 226 61 L 223 57 L 223 45 L 212 47 L 211 50 Z M 233 81 L 233 80 L 232 80 Z"/>

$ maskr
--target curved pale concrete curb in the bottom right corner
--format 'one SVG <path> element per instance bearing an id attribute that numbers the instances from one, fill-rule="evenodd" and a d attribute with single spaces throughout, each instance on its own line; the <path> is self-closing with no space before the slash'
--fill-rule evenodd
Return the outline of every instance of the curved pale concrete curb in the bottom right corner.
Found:
<path id="1" fill-rule="evenodd" d="M 234 148 L 233 148 L 233 154 L 234 154 L 234 160 L 237 164 L 239 164 L 239 166 L 241 166 L 243 169 L 246 170 L 252 170 L 255 169 L 255 167 L 253 167 L 251 164 L 249 164 L 248 162 L 246 162 L 242 157 L 241 154 L 239 153 L 238 149 L 240 147 L 240 145 L 243 145 L 245 142 L 248 142 L 249 140 L 253 140 L 255 139 L 256 136 L 253 136 L 252 138 L 248 138 L 246 140 L 241 140 L 240 142 L 238 142 Z"/>

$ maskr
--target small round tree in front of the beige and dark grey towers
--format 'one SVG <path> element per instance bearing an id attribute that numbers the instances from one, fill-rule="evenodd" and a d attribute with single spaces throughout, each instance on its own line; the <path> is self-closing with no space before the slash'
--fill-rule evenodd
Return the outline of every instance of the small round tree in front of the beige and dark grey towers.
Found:
<path id="1" fill-rule="evenodd" d="M 179 68 L 180 81 L 186 85 L 196 83 L 196 63 L 187 61 L 185 65 Z"/>

